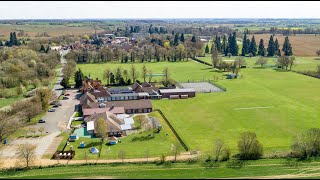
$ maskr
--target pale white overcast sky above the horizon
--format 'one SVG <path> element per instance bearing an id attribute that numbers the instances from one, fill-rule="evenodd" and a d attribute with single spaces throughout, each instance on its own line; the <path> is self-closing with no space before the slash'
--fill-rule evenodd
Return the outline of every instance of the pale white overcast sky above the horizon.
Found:
<path id="1" fill-rule="evenodd" d="M 29 1 L 0 2 L 0 19 L 320 18 L 313 1 Z"/>

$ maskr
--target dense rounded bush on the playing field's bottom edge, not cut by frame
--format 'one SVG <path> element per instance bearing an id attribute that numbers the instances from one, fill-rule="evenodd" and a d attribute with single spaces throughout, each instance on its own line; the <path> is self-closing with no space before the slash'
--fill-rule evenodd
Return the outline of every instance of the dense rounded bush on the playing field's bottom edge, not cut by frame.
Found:
<path id="1" fill-rule="evenodd" d="M 238 141 L 239 158 L 241 160 L 255 160 L 262 156 L 263 148 L 257 140 L 256 133 L 243 132 Z"/>

